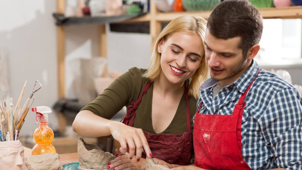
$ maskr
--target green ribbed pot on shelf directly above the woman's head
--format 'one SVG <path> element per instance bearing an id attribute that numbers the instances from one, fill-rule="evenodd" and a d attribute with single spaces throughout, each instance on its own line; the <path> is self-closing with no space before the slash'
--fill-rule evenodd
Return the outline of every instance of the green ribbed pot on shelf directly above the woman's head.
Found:
<path id="1" fill-rule="evenodd" d="M 209 11 L 216 7 L 221 0 L 182 0 L 186 11 Z"/>

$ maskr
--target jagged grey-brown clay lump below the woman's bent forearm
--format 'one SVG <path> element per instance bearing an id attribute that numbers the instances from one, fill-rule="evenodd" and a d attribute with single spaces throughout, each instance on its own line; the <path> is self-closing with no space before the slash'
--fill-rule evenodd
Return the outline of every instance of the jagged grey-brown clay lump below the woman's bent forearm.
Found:
<path id="1" fill-rule="evenodd" d="M 95 144 L 78 140 L 79 168 L 82 169 L 107 169 L 107 163 L 116 157 L 109 152 L 102 151 Z"/>

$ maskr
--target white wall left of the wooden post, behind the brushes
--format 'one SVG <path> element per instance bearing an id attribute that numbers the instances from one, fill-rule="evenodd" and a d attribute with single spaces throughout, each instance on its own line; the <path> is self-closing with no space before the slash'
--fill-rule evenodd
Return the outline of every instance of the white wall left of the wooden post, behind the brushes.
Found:
<path id="1" fill-rule="evenodd" d="M 13 103 L 16 104 L 25 80 L 28 82 L 23 102 L 35 80 L 40 80 L 43 88 L 34 95 L 33 106 L 51 107 L 57 99 L 56 27 L 51 15 L 56 10 L 56 3 L 0 0 L 0 4 L 0 47 L 9 51 Z M 56 115 L 49 115 L 49 120 L 50 126 L 56 128 Z M 20 135 L 33 134 L 38 126 L 34 121 L 35 114 L 29 111 Z"/>

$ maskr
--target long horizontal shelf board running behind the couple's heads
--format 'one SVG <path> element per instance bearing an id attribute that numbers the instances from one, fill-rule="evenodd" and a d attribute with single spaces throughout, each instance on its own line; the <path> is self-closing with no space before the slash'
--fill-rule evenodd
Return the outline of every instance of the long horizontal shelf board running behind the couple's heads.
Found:
<path id="1" fill-rule="evenodd" d="M 292 6 L 286 8 L 260 8 L 263 18 L 302 18 L 302 6 Z M 183 15 L 196 15 L 204 19 L 208 19 L 212 11 L 184 11 L 184 12 L 158 12 L 155 15 L 137 14 L 137 15 L 121 15 L 121 16 L 104 16 L 104 17 L 70 17 L 65 18 L 64 15 L 54 14 L 57 25 L 85 25 L 85 24 L 105 24 L 105 23 L 141 23 L 151 20 L 166 22 Z"/>

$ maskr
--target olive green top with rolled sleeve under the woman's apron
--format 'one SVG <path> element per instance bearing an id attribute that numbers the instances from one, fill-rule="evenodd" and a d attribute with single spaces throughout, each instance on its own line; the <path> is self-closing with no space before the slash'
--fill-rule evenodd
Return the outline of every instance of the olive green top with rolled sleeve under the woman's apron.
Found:
<path id="1" fill-rule="evenodd" d="M 90 104 L 83 107 L 82 110 L 89 110 L 92 113 L 106 119 L 111 119 L 124 106 L 128 106 L 132 101 L 136 102 L 140 97 L 143 88 L 147 85 L 149 79 L 142 77 L 146 69 L 133 67 L 119 76 L 109 85 L 104 92 L 99 95 Z M 141 128 L 143 131 L 156 134 L 152 126 L 152 95 L 153 83 L 137 108 L 133 127 Z M 189 96 L 189 106 L 191 115 L 191 131 L 193 132 L 192 118 L 196 112 L 197 100 Z M 185 93 L 178 105 L 176 114 L 170 125 L 161 134 L 179 135 L 186 131 L 186 111 L 187 102 Z"/>

